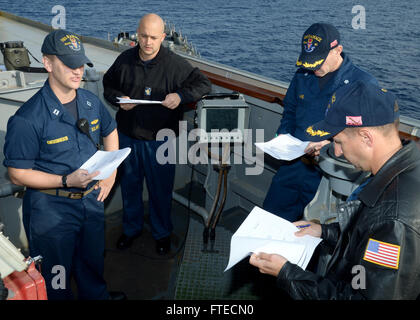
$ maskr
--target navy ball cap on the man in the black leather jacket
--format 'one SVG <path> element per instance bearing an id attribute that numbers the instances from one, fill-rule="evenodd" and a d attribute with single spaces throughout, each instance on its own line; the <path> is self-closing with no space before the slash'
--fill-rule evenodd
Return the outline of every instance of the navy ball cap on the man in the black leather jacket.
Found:
<path id="1" fill-rule="evenodd" d="M 375 84 L 356 81 L 332 95 L 324 120 L 306 129 L 306 139 L 322 141 L 346 128 L 383 126 L 393 123 L 399 115 L 394 94 Z"/>

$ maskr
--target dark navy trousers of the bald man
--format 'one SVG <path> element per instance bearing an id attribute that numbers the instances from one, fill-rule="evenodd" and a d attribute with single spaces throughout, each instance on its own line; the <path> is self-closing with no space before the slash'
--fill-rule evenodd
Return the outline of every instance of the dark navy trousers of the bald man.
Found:
<path id="1" fill-rule="evenodd" d="M 131 152 L 120 167 L 121 191 L 123 192 L 123 228 L 127 236 L 141 232 L 144 225 L 143 181 L 149 191 L 149 219 L 154 239 L 170 236 L 172 190 L 175 180 L 175 160 L 160 164 L 157 152 L 166 141 L 138 140 L 118 132 L 121 148 Z M 139 214 L 141 213 L 141 214 Z"/>

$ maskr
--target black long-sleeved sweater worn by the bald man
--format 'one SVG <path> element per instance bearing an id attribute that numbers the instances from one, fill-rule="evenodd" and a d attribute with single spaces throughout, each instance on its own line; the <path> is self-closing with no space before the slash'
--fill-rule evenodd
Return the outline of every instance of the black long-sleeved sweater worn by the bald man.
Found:
<path id="1" fill-rule="evenodd" d="M 122 52 L 103 78 L 104 97 L 118 106 L 116 97 L 163 101 L 167 94 L 178 93 L 181 104 L 199 100 L 211 90 L 211 83 L 198 68 L 161 46 L 156 57 L 144 63 L 139 46 Z M 118 109 L 118 130 L 136 139 L 154 140 L 160 129 L 178 135 L 183 106 L 168 109 L 160 104 L 138 105 L 129 111 Z"/>

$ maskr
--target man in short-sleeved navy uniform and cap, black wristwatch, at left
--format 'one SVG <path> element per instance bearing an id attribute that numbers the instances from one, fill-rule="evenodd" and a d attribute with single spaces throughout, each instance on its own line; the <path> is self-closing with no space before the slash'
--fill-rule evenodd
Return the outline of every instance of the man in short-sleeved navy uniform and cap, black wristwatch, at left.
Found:
<path id="1" fill-rule="evenodd" d="M 100 137 L 106 151 L 118 150 L 116 124 L 97 96 L 79 88 L 84 65 L 93 65 L 76 34 L 52 31 L 41 51 L 48 80 L 9 119 L 4 146 L 11 181 L 26 186 L 23 224 L 30 255 L 43 257 L 50 300 L 73 297 L 71 276 L 79 299 L 122 298 L 108 293 L 103 279 L 103 201 L 116 171 L 97 182 L 99 172 L 79 169 L 97 151 Z M 91 138 L 78 129 L 78 119 L 87 120 Z"/>

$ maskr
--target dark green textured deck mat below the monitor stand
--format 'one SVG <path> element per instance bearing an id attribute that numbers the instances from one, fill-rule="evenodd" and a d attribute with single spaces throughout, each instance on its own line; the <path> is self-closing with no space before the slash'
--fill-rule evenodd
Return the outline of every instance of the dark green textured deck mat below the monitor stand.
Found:
<path id="1" fill-rule="evenodd" d="M 187 189 L 188 186 L 177 192 L 186 196 Z M 193 190 L 192 198 L 197 204 L 204 205 L 205 190 L 196 184 Z M 229 260 L 231 237 L 247 215 L 248 211 L 240 207 L 225 210 L 216 227 L 214 243 L 209 241 L 206 246 L 203 244 L 202 220 L 195 214 L 189 215 L 188 233 L 176 271 L 173 299 L 288 299 L 275 287 L 274 278 L 261 274 L 248 263 L 248 258 L 224 272 Z"/>

